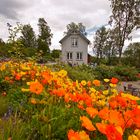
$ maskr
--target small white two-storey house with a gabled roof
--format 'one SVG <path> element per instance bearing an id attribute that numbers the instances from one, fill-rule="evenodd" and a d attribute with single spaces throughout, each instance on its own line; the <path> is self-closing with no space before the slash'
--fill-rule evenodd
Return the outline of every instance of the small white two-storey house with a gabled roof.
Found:
<path id="1" fill-rule="evenodd" d="M 72 65 L 88 63 L 88 45 L 90 41 L 79 31 L 72 31 L 59 43 L 62 47 L 61 61 Z"/>

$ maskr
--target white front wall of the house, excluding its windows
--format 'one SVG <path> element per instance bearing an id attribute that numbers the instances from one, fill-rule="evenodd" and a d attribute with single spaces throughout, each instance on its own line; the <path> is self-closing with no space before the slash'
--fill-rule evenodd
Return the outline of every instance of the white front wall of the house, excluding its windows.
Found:
<path id="1" fill-rule="evenodd" d="M 72 46 L 72 40 L 71 38 L 76 37 L 78 38 L 78 46 Z M 73 53 L 73 59 L 67 60 L 67 52 L 72 52 Z M 82 52 L 82 60 L 77 60 L 76 55 L 77 52 Z M 62 42 L 62 62 L 65 63 L 71 63 L 71 64 L 87 64 L 88 62 L 88 43 L 79 35 L 70 35 L 68 38 L 63 40 Z"/>

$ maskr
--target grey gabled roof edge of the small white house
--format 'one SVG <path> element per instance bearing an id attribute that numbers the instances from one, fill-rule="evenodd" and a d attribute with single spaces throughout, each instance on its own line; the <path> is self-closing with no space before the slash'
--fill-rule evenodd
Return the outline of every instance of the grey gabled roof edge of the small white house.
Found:
<path id="1" fill-rule="evenodd" d="M 81 38 L 83 38 L 88 44 L 90 43 L 90 41 L 79 31 L 71 31 L 70 33 L 68 33 L 67 35 L 65 35 L 60 41 L 59 43 L 62 44 L 62 42 L 67 39 L 69 36 L 71 35 L 79 35 Z"/>

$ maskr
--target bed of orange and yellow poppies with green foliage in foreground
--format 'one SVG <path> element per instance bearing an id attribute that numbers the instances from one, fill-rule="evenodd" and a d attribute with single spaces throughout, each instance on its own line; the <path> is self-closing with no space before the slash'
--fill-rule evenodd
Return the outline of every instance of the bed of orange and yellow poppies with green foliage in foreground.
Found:
<path id="1" fill-rule="evenodd" d="M 140 139 L 139 97 L 117 91 L 116 77 L 72 80 L 35 62 L 0 63 L 4 107 L 0 139 Z"/>

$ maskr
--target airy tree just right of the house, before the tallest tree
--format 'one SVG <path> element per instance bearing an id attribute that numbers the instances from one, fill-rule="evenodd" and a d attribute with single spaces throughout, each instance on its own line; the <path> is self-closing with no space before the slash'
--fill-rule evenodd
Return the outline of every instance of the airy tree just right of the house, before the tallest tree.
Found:
<path id="1" fill-rule="evenodd" d="M 111 59 L 116 57 L 117 54 L 113 30 L 107 30 L 103 26 L 96 31 L 93 51 L 97 57 L 97 61 L 104 58 L 108 64 L 111 64 Z"/>

